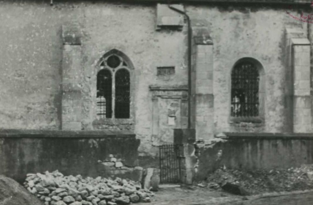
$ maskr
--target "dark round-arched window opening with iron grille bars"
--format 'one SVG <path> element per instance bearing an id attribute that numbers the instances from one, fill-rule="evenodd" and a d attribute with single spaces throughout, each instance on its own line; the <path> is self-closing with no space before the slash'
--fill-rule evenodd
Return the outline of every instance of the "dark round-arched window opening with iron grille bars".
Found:
<path id="1" fill-rule="evenodd" d="M 237 64 L 231 77 L 231 116 L 259 115 L 259 71 L 250 62 Z"/>

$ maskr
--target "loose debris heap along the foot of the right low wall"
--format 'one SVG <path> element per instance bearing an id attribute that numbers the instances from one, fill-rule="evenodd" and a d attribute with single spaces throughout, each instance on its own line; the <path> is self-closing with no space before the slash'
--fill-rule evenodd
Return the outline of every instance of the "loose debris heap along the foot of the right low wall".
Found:
<path id="1" fill-rule="evenodd" d="M 198 182 L 199 183 L 199 182 Z M 227 186 L 224 186 L 228 183 Z M 231 186 L 230 184 L 233 184 Z M 236 187 L 238 185 L 238 187 Z M 313 164 L 303 164 L 297 168 L 273 168 L 239 170 L 218 168 L 198 184 L 198 187 L 222 189 L 240 195 L 243 188 L 250 194 L 269 192 L 299 191 L 313 188 Z M 223 188 L 224 187 L 224 188 Z"/>

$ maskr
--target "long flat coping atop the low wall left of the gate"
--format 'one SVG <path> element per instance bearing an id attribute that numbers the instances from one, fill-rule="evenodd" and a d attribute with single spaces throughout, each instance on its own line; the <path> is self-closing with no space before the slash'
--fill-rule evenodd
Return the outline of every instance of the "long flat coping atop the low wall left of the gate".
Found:
<path id="1" fill-rule="evenodd" d="M 33 130 L 0 129 L 0 138 L 133 138 L 136 134 L 129 130 Z"/>

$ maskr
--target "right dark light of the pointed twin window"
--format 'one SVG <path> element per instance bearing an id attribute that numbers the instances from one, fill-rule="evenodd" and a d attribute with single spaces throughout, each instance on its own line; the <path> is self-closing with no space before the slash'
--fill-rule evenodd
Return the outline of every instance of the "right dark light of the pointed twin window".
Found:
<path id="1" fill-rule="evenodd" d="M 130 74 L 126 69 L 115 73 L 115 118 L 130 117 Z"/>

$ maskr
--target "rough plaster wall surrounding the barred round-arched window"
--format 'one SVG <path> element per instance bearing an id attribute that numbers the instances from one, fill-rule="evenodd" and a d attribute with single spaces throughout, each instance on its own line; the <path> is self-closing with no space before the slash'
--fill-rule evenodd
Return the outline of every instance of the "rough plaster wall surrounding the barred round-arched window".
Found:
<path id="1" fill-rule="evenodd" d="M 285 58 L 283 38 L 286 26 L 306 29 L 306 24 L 289 17 L 284 10 L 187 7 L 193 27 L 207 27 L 214 43 L 214 123 L 216 132 L 285 130 Z M 235 62 L 253 57 L 265 70 L 265 124 L 231 126 L 230 74 Z"/>

